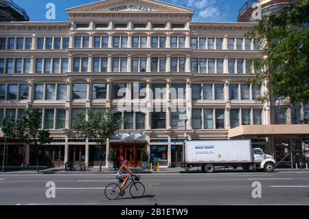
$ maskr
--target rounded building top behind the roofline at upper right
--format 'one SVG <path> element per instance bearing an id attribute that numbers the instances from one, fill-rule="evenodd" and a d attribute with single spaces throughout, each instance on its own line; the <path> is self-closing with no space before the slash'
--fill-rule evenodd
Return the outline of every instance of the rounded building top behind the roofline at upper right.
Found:
<path id="1" fill-rule="evenodd" d="M 279 13 L 286 5 L 301 0 L 250 0 L 239 10 L 238 22 L 256 22 L 264 16 Z"/>

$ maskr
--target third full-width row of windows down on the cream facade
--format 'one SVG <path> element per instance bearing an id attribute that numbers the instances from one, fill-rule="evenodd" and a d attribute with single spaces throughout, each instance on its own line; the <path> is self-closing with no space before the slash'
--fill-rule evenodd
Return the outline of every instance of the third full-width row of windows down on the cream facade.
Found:
<path id="1" fill-rule="evenodd" d="M 224 84 L 192 84 L 192 100 L 225 100 Z M 72 85 L 72 99 L 86 100 L 88 84 Z M 92 100 L 106 99 L 107 84 L 91 84 Z M 117 100 L 131 94 L 131 99 L 146 97 L 146 83 L 131 83 L 130 91 L 126 83 L 111 84 L 111 99 Z M 171 84 L 171 98 L 186 99 L 186 84 Z M 166 99 L 166 84 L 151 84 L 150 97 L 153 100 Z M 229 84 L 229 100 L 258 100 L 261 97 L 261 86 L 252 87 L 247 84 Z M 0 100 L 27 100 L 29 86 L 27 84 L 0 84 Z M 66 84 L 34 84 L 34 100 L 66 100 Z"/>

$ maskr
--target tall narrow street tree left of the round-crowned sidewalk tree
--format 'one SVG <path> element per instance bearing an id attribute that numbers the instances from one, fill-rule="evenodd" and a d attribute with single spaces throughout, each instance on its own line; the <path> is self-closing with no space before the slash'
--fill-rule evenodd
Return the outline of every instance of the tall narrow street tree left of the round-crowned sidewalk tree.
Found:
<path id="1" fill-rule="evenodd" d="M 38 152 L 45 144 L 50 143 L 49 132 L 43 130 L 42 126 L 42 113 L 38 108 L 33 108 L 31 104 L 28 104 L 25 110 L 24 116 L 25 131 L 34 140 L 34 146 L 32 147 L 36 152 L 36 170 L 38 171 Z"/>

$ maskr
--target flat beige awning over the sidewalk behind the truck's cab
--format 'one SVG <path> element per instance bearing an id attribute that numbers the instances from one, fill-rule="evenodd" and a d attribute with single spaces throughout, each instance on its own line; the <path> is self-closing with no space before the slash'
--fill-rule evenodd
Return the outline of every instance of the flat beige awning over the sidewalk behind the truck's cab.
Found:
<path id="1" fill-rule="evenodd" d="M 244 135 L 262 135 L 271 137 L 275 135 L 308 135 L 309 125 L 262 125 L 262 126 L 238 126 L 229 130 L 229 138 L 242 137 Z"/>

